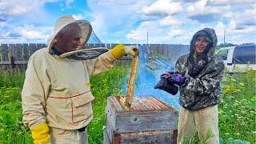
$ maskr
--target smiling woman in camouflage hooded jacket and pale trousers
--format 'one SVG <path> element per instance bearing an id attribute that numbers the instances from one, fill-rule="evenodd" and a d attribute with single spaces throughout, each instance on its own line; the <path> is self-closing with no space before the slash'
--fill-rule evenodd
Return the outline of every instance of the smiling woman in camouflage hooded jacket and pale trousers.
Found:
<path id="1" fill-rule="evenodd" d="M 201 142 L 219 143 L 218 103 L 224 64 L 222 58 L 214 55 L 216 46 L 217 36 L 213 29 L 199 30 L 190 42 L 190 53 L 176 62 L 178 74 L 167 79 L 180 90 L 182 109 L 178 118 L 178 143 L 190 139 L 194 130 L 198 130 Z M 211 137 L 207 138 L 209 132 Z"/>

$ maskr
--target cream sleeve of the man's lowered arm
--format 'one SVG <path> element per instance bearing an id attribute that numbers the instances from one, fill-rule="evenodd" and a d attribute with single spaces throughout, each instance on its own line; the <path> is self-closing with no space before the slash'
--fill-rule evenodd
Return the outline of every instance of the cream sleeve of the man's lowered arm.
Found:
<path id="1" fill-rule="evenodd" d="M 22 89 L 22 121 L 29 127 L 46 122 L 45 106 L 50 78 L 43 66 L 42 58 L 37 56 L 33 54 L 30 57 Z"/>

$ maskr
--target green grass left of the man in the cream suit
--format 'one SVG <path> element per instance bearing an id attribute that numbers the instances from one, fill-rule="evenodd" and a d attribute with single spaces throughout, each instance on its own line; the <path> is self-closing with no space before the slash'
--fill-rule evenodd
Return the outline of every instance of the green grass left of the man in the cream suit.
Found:
<path id="1" fill-rule="evenodd" d="M 28 127 L 22 124 L 21 91 L 24 72 L 2 70 L 0 73 L 0 143 L 31 143 Z"/>

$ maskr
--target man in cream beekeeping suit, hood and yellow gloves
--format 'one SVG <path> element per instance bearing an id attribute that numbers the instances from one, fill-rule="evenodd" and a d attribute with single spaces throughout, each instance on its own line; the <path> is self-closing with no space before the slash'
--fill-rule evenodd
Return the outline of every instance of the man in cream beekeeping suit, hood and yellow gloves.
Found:
<path id="1" fill-rule="evenodd" d="M 86 43 L 91 31 L 90 22 L 63 16 L 55 23 L 47 47 L 31 55 L 22 109 L 34 143 L 88 143 L 86 126 L 93 118 L 94 100 L 90 75 L 110 70 L 118 58 L 134 55 L 137 49 L 121 44 L 94 59 L 59 57 Z"/>

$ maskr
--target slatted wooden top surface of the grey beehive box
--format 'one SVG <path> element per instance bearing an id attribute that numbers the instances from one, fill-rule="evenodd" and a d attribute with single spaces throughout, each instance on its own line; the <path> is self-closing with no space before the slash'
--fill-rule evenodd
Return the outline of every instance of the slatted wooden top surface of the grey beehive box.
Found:
<path id="1" fill-rule="evenodd" d="M 168 106 L 166 103 L 162 102 L 158 98 L 154 96 L 136 96 L 133 99 L 133 102 L 129 108 L 129 110 L 124 109 L 120 99 L 124 97 L 116 96 L 110 97 L 110 104 L 114 107 L 114 110 L 117 112 L 125 112 L 125 111 L 147 111 L 147 110 L 168 110 L 168 111 L 177 111 L 173 107 Z"/>

